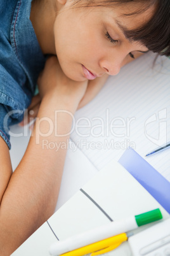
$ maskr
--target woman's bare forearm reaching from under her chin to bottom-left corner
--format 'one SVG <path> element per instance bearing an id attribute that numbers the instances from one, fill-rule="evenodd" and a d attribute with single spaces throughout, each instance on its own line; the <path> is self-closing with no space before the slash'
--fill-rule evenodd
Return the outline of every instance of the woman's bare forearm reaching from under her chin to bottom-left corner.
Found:
<path id="1" fill-rule="evenodd" d="M 42 102 L 34 131 L 1 201 L 0 255 L 9 256 L 53 214 L 72 127 L 72 115 L 86 87 L 87 82 L 74 82 L 65 77 L 56 58 L 52 57 L 46 62 L 40 79 Z M 56 133 L 63 135 L 58 137 Z M 56 152 L 44 146 L 44 143 L 65 143 L 66 147 Z M 5 146 L 1 139 L 1 152 Z M 1 160 L 8 176 L 11 173 L 9 152 L 4 152 Z M 1 183 L 6 186 L 5 180 Z"/>

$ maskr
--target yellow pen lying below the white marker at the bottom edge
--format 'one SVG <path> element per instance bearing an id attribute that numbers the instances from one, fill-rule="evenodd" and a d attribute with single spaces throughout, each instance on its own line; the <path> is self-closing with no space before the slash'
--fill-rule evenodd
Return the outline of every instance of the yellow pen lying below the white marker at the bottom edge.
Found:
<path id="1" fill-rule="evenodd" d="M 119 234 L 117 236 L 112 236 L 111 238 L 103 239 L 91 245 L 83 246 L 79 249 L 63 253 L 60 256 L 82 256 L 88 253 L 92 253 L 91 256 L 100 255 L 106 252 L 114 250 L 122 242 L 127 241 L 128 236 L 126 233 Z"/>

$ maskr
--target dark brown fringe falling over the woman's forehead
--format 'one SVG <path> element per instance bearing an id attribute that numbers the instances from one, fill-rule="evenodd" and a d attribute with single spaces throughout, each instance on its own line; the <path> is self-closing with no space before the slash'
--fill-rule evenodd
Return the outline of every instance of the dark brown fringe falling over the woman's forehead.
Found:
<path id="1" fill-rule="evenodd" d="M 125 31 L 126 36 L 133 41 L 140 41 L 152 52 L 160 55 L 170 56 L 170 0 L 75 0 L 73 6 L 88 7 L 99 6 L 109 7 L 114 4 L 140 3 L 143 7 L 134 13 L 124 15 L 136 15 L 155 5 L 155 13 L 137 29 Z"/>

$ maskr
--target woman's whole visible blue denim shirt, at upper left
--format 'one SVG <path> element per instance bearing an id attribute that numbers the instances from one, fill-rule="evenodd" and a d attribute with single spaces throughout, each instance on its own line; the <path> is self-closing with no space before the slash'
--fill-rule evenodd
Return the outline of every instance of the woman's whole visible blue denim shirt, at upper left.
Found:
<path id="1" fill-rule="evenodd" d="M 21 122 L 45 58 L 30 22 L 32 0 L 0 0 L 0 136 Z"/>

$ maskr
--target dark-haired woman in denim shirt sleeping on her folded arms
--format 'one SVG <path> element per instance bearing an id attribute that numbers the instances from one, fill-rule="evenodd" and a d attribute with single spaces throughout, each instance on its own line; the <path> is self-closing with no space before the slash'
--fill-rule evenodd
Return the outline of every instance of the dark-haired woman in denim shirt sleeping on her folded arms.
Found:
<path id="1" fill-rule="evenodd" d="M 170 3 L 0 0 L 0 6 L 0 254 L 10 255 L 55 209 L 66 150 L 42 148 L 44 136 L 67 143 L 72 115 L 108 75 L 148 50 L 170 55 Z M 36 81 L 40 96 L 29 108 L 36 124 L 12 173 L 8 127 L 22 121 Z M 60 136 L 49 132 L 58 110 Z"/>

